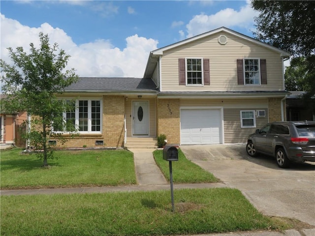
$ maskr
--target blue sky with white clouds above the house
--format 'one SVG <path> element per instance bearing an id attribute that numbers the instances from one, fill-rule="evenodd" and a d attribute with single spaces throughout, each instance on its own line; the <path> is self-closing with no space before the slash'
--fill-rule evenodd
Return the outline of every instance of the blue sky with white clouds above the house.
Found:
<path id="1" fill-rule="evenodd" d="M 39 46 L 39 32 L 70 55 L 80 77 L 142 78 L 151 51 L 220 27 L 253 37 L 249 0 L 0 0 L 0 57 Z"/>

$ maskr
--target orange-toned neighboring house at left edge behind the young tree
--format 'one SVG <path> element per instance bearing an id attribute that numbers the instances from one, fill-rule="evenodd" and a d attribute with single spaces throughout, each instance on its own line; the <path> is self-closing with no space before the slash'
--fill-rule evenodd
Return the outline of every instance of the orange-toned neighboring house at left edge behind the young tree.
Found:
<path id="1" fill-rule="evenodd" d="M 0 94 L 0 99 L 4 98 Z M 26 143 L 21 138 L 21 128 L 23 122 L 27 119 L 27 112 L 5 112 L 0 111 L 1 144 L 14 144 L 18 147 L 25 147 Z"/>

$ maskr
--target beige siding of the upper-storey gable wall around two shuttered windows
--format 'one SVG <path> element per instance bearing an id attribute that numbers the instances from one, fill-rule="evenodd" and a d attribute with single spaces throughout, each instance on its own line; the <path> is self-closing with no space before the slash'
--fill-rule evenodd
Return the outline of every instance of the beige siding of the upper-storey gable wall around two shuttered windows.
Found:
<path id="1" fill-rule="evenodd" d="M 161 79 L 163 91 L 283 90 L 282 59 L 279 53 L 235 35 L 224 33 L 227 44 L 218 43 L 221 33 L 172 48 L 163 53 Z M 210 86 L 179 86 L 178 59 L 210 59 Z M 267 62 L 267 85 L 237 84 L 236 59 L 260 58 Z"/>

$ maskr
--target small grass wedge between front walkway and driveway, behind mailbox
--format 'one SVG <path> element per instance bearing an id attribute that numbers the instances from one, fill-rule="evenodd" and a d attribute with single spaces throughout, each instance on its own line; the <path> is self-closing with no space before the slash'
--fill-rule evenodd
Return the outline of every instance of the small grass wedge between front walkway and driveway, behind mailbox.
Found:
<path id="1" fill-rule="evenodd" d="M 153 155 L 163 175 L 169 180 L 169 162 L 163 160 L 163 150 L 155 150 Z M 178 161 L 172 162 L 172 173 L 174 183 L 211 183 L 219 181 L 211 173 L 189 161 L 181 149 L 178 149 Z"/>

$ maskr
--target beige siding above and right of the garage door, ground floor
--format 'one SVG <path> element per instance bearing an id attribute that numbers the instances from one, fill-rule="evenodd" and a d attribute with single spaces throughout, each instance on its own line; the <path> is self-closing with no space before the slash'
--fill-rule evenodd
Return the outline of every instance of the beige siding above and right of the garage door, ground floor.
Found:
<path id="1" fill-rule="evenodd" d="M 267 98 L 250 99 L 181 99 L 180 107 L 183 108 L 223 108 L 224 143 L 244 143 L 247 136 L 268 122 Z M 240 111 L 265 110 L 264 118 L 255 118 L 255 128 L 241 128 Z"/>

